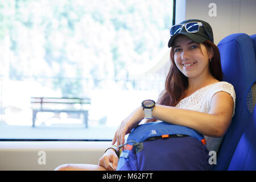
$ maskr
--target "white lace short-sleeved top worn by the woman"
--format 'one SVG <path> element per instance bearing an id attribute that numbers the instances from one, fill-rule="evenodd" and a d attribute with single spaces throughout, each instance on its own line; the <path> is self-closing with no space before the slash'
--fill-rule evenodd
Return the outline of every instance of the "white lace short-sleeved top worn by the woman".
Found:
<path id="1" fill-rule="evenodd" d="M 185 97 L 183 100 L 181 100 L 175 107 L 180 109 L 189 109 L 189 110 L 200 111 L 203 113 L 209 113 L 210 104 L 211 104 L 213 95 L 221 91 L 224 91 L 230 94 L 230 96 L 233 98 L 234 109 L 235 109 L 236 93 L 234 91 L 234 87 L 232 84 L 229 84 L 228 82 L 225 82 L 225 81 L 216 82 L 215 84 L 207 85 L 199 90 L 196 90 L 196 92 L 194 92 L 190 96 Z M 233 115 L 234 115 L 234 109 L 233 109 Z M 207 136 L 204 136 L 204 137 L 207 142 L 208 150 L 217 152 L 218 147 L 220 147 L 222 137 L 221 138 L 207 137 Z"/>

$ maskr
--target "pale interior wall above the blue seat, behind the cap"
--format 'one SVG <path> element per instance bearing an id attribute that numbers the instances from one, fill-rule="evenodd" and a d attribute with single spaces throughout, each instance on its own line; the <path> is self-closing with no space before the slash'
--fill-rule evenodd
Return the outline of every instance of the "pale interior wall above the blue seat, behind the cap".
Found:
<path id="1" fill-rule="evenodd" d="M 216 4 L 216 16 L 209 16 L 210 3 Z M 234 33 L 256 34 L 255 0 L 176 0 L 176 23 L 201 19 L 213 29 L 214 43 Z"/>

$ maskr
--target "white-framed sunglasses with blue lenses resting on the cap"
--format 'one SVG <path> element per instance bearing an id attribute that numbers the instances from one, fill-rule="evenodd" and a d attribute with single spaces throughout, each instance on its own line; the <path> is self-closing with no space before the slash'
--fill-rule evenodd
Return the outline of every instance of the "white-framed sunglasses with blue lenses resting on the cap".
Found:
<path id="1" fill-rule="evenodd" d="M 207 30 L 205 30 L 203 23 L 201 22 L 188 22 L 183 24 L 175 24 L 174 26 L 170 27 L 170 35 L 173 36 L 179 32 L 181 32 L 182 28 L 185 27 L 185 30 L 189 33 L 196 33 L 199 32 L 200 27 L 203 27 L 204 31 L 206 32 L 207 36 L 213 42 L 212 36 L 209 35 Z"/>

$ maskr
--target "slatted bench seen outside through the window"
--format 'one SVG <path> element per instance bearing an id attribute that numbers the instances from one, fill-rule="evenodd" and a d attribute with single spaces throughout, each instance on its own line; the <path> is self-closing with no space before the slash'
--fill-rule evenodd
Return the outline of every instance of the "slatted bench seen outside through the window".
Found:
<path id="1" fill-rule="evenodd" d="M 31 104 L 38 105 L 38 107 L 32 107 L 32 127 L 35 127 L 36 114 L 39 112 L 51 112 L 51 113 L 79 113 L 83 114 L 85 127 L 88 127 L 88 110 L 83 109 L 83 105 L 90 104 L 90 98 L 56 98 L 56 97 L 31 97 Z M 65 105 L 69 106 L 68 109 L 44 109 L 46 104 Z M 74 106 L 79 104 L 80 109 L 76 109 Z M 73 107 L 72 107 L 73 106 Z"/>

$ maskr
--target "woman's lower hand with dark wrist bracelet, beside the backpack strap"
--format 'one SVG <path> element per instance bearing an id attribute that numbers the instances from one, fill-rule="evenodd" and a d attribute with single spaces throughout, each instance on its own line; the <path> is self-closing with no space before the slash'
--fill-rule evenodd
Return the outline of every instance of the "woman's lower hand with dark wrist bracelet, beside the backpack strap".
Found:
<path id="1" fill-rule="evenodd" d="M 109 171 L 113 171 L 113 168 L 109 166 L 109 163 L 113 164 L 113 168 L 117 168 L 118 156 L 115 154 L 113 148 L 109 148 L 104 155 L 98 160 L 98 166 L 104 167 Z"/>

